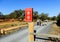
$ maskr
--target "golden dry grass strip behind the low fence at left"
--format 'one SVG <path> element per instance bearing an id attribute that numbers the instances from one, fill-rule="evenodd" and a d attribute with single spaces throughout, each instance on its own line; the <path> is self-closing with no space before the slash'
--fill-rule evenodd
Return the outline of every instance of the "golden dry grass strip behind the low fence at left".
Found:
<path id="1" fill-rule="evenodd" d="M 9 27 L 13 27 L 13 26 L 20 26 L 20 25 L 26 25 L 26 22 L 3 22 L 0 23 L 0 28 L 9 28 Z"/>

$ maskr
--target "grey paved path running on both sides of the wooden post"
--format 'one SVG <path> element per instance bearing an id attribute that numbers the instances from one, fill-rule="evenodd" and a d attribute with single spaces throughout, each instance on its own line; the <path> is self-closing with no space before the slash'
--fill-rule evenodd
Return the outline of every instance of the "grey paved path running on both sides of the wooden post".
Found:
<path id="1" fill-rule="evenodd" d="M 49 33 L 51 29 L 51 22 L 47 24 L 47 26 L 34 26 L 34 29 L 37 33 Z M 0 42 L 28 42 L 28 29 L 20 30 L 14 34 L 9 36 L 0 38 Z M 44 42 L 44 40 L 38 40 L 35 42 Z"/>

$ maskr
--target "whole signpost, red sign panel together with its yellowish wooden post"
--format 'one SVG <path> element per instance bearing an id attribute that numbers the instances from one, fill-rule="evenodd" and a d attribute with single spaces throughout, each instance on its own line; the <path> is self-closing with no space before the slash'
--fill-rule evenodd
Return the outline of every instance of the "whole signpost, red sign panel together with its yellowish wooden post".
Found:
<path id="1" fill-rule="evenodd" d="M 34 24 L 32 22 L 32 16 L 33 16 L 33 9 L 32 8 L 26 8 L 25 9 L 25 21 L 29 24 L 29 42 L 34 42 L 34 35 L 31 33 L 34 33 Z"/>

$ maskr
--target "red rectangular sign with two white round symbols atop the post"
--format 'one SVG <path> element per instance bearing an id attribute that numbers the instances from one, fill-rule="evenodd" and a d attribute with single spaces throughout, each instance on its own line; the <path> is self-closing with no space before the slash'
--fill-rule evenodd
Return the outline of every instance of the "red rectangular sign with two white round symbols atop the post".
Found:
<path id="1" fill-rule="evenodd" d="M 25 9 L 25 21 L 32 22 L 33 16 L 33 8 L 26 8 Z"/>

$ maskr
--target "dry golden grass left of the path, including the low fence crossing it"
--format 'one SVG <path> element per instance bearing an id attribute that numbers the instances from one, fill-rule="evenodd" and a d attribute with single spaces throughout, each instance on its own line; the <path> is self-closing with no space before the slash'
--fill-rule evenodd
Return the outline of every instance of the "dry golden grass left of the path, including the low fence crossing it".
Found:
<path id="1" fill-rule="evenodd" d="M 13 33 L 15 31 L 18 31 L 21 29 L 21 27 L 24 27 L 27 25 L 27 22 L 19 22 L 19 21 L 15 21 L 15 22 L 2 22 L 0 23 L 0 33 L 3 34 L 3 30 L 5 30 L 5 34 L 10 34 Z M 25 29 L 25 28 L 22 28 Z"/>

